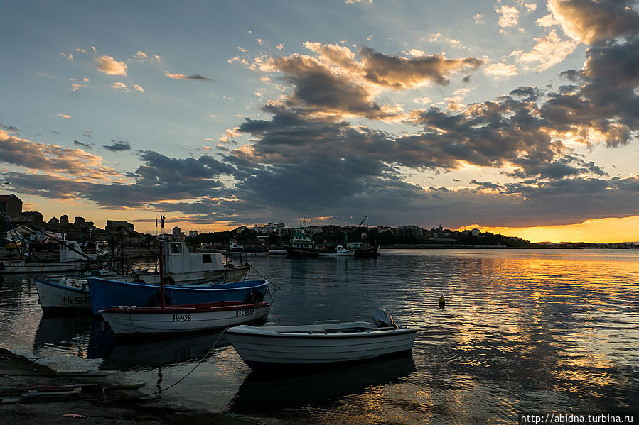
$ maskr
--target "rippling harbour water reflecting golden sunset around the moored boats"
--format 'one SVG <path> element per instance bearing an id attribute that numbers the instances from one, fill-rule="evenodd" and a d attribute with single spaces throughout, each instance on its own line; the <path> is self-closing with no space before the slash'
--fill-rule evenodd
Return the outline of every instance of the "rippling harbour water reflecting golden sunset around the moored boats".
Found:
<path id="1" fill-rule="evenodd" d="M 222 336 L 164 393 L 165 404 L 286 424 L 514 423 L 518 412 L 639 410 L 635 250 L 384 250 L 377 259 L 249 261 L 281 288 L 272 291 L 270 321 L 370 320 L 385 307 L 419 329 L 412 356 L 263 377 Z M 31 277 L 5 278 L 0 346 L 58 370 L 146 382 L 145 392 L 178 381 L 218 340 L 114 345 L 91 318 L 42 318 L 37 300 Z"/>

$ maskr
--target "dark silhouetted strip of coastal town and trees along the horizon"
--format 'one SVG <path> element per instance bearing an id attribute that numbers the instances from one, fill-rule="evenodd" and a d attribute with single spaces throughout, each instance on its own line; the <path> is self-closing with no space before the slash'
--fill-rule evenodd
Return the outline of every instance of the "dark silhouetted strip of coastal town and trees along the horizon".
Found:
<path id="1" fill-rule="evenodd" d="M 6 214 L 0 216 L 0 240 L 4 245 L 17 235 L 28 236 L 36 232 L 54 232 L 65 234 L 69 238 L 85 243 L 87 241 L 104 241 L 104 243 L 121 243 L 129 253 L 144 253 L 155 249 L 154 239 L 157 234 L 141 233 L 135 230 L 133 223 L 122 220 L 107 220 L 104 228 L 96 226 L 84 217 L 75 216 L 73 221 L 68 215 L 45 217 L 39 211 L 23 211 L 23 202 L 14 194 L 0 195 L 0 209 Z M 162 223 L 164 224 L 164 223 Z M 363 229 L 367 237 L 375 241 L 380 248 L 639 248 L 637 243 L 586 243 L 579 241 L 551 243 L 531 243 L 517 236 L 504 236 L 483 232 L 479 228 L 450 229 L 441 224 L 431 228 L 417 225 L 399 226 L 339 226 L 336 224 L 313 225 L 297 223 L 286 226 L 285 223 L 254 224 L 237 226 L 229 231 L 201 232 L 197 230 L 183 231 L 173 226 L 170 232 L 159 229 L 164 238 L 173 241 L 187 241 L 198 248 L 229 248 L 231 241 L 241 245 L 247 252 L 267 251 L 278 248 L 289 241 L 295 228 L 304 227 L 304 232 L 317 243 L 354 242 L 361 240 Z M 167 226 L 169 227 L 169 226 Z M 12 236 L 13 235 L 13 236 Z"/>

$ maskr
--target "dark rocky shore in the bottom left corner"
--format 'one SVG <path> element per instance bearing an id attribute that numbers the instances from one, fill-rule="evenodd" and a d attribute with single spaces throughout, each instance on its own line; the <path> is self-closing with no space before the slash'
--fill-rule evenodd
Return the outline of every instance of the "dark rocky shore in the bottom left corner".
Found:
<path id="1" fill-rule="evenodd" d="M 53 397 L 9 397 L 11 389 L 33 386 L 82 385 L 77 394 Z M 50 389 L 49 389 L 50 390 Z M 58 372 L 21 355 L 0 348 L 0 425 L 69 424 L 261 424 L 256 418 L 227 413 L 161 407 L 157 398 L 146 397 L 135 386 L 114 382 L 100 374 Z M 2 395 L 4 394 L 4 395 Z M 65 416 L 75 415 L 75 416 Z"/>

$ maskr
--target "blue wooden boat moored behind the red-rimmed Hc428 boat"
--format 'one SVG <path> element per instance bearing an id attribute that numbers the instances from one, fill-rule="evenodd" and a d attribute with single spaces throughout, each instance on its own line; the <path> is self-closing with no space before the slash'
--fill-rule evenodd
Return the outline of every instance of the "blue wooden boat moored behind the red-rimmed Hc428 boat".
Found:
<path id="1" fill-rule="evenodd" d="M 120 282 L 89 277 L 93 314 L 115 306 L 154 307 L 162 304 L 159 285 Z M 222 301 L 259 302 L 264 299 L 268 280 L 242 280 L 208 285 L 164 285 L 164 304 L 206 304 Z"/>

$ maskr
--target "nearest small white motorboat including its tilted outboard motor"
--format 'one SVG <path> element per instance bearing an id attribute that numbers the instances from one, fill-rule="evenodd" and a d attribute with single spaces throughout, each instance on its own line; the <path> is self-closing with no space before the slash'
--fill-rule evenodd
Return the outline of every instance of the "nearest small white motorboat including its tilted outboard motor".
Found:
<path id="1" fill-rule="evenodd" d="M 397 326 L 384 309 L 375 323 L 316 321 L 301 326 L 236 326 L 225 331 L 252 369 L 340 365 L 412 350 L 417 329 Z"/>

